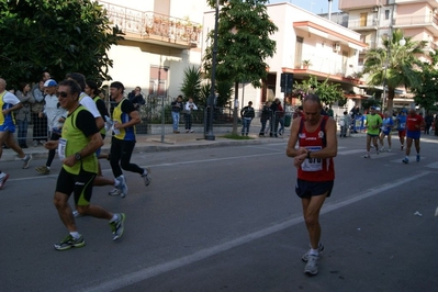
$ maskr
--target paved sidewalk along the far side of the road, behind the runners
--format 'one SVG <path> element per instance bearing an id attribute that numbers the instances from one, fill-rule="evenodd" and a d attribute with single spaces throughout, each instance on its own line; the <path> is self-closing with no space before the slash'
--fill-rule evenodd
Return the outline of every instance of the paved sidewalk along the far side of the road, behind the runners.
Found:
<path id="1" fill-rule="evenodd" d="M 168 151 L 168 150 L 179 150 L 188 148 L 204 148 L 204 147 L 221 147 L 221 146 L 238 146 L 238 145 L 259 145 L 265 143 L 287 143 L 289 139 L 289 134 L 284 137 L 259 137 L 257 133 L 250 133 L 249 137 L 251 139 L 228 139 L 224 138 L 225 133 L 214 133 L 214 141 L 204 139 L 203 133 L 186 133 L 180 134 L 165 134 L 161 135 L 148 135 L 148 134 L 137 134 L 137 143 L 134 148 L 134 153 L 153 153 L 153 151 Z M 111 136 L 106 136 L 104 139 L 104 145 L 102 147 L 103 153 L 109 153 L 111 147 Z M 30 145 L 29 148 L 23 149 L 25 154 L 32 154 L 34 159 L 46 159 L 48 150 L 44 146 L 38 145 L 33 147 Z M 3 149 L 3 155 L 1 157 L 2 161 L 13 161 L 16 160 L 16 154 L 12 149 Z"/>

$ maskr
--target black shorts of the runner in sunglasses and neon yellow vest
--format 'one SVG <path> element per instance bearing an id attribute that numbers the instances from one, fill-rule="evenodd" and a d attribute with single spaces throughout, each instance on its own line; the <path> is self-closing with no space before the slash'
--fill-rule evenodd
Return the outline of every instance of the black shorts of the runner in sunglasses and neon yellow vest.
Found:
<path id="1" fill-rule="evenodd" d="M 68 196 L 75 193 L 76 205 L 89 205 L 94 178 L 96 173 L 82 171 L 79 175 L 72 175 L 63 167 L 56 181 L 56 191 Z"/>

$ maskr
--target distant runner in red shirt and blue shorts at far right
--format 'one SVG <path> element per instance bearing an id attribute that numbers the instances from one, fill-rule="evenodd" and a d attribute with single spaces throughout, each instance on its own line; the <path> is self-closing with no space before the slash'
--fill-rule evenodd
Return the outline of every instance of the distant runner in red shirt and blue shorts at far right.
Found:
<path id="1" fill-rule="evenodd" d="M 415 150 L 417 151 L 416 160 L 419 162 L 419 138 L 422 136 L 423 126 L 425 126 L 425 120 L 423 116 L 417 114 L 415 109 L 411 109 L 406 116 L 406 157 L 402 160 L 403 164 L 409 162 L 409 154 L 413 141 L 415 143 Z"/>

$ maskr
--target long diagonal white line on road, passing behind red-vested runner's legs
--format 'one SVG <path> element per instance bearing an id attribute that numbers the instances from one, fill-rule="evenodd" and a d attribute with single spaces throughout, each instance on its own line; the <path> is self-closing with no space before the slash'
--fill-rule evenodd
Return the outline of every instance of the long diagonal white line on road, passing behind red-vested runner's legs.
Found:
<path id="1" fill-rule="evenodd" d="M 357 203 L 357 202 L 359 202 L 361 200 L 364 200 L 367 198 L 370 198 L 372 195 L 375 195 L 375 194 L 379 194 L 379 193 L 384 193 L 385 191 L 388 191 L 390 189 L 403 186 L 405 183 L 408 183 L 408 182 L 411 182 L 413 180 L 419 179 L 419 178 L 425 177 L 425 176 L 430 175 L 430 173 L 435 173 L 435 172 L 433 172 L 433 171 L 424 171 L 424 172 L 420 172 L 420 173 L 418 173 L 416 176 L 409 176 L 409 177 L 401 178 L 401 179 L 398 179 L 398 180 L 396 180 L 394 182 L 385 183 L 385 184 L 379 186 L 379 187 L 373 188 L 373 189 L 369 189 L 369 190 L 367 190 L 364 192 L 361 192 L 361 193 L 358 193 L 358 194 L 352 194 L 350 199 L 347 199 L 347 200 L 345 200 L 342 202 L 338 202 L 338 203 L 335 203 L 335 204 L 332 204 L 332 205 L 327 204 L 327 205 L 323 206 L 321 214 L 326 214 L 326 213 L 336 211 L 338 209 L 341 209 L 344 206 L 347 206 L 349 204 Z M 274 226 L 271 226 L 271 227 L 268 227 L 268 228 L 265 228 L 265 229 L 261 229 L 261 231 L 258 231 L 258 232 L 242 236 L 239 238 L 229 240 L 227 243 L 224 243 L 224 244 L 221 244 L 221 245 L 217 245 L 217 246 L 213 246 L 213 247 L 210 247 L 210 248 L 202 249 L 202 250 L 200 250 L 198 252 L 194 252 L 192 255 L 189 255 L 189 256 L 186 256 L 186 257 L 182 257 L 182 258 L 179 258 L 179 259 L 175 259 L 175 260 L 171 260 L 171 261 L 167 261 L 167 262 L 154 266 L 154 267 L 149 267 L 149 268 L 146 268 L 146 269 L 143 269 L 143 270 L 130 273 L 130 274 L 125 274 L 125 276 L 119 277 L 119 278 L 116 278 L 114 280 L 110 280 L 110 281 L 100 283 L 97 287 L 85 289 L 83 291 L 88 291 L 88 292 L 114 291 L 114 290 L 121 289 L 123 287 L 126 287 L 126 285 L 130 285 L 130 284 L 133 284 L 133 283 L 137 283 L 137 282 L 144 281 L 144 280 L 150 279 L 150 278 L 153 278 L 155 276 L 158 276 L 158 274 L 161 274 L 161 273 L 165 273 L 165 272 L 168 272 L 168 271 L 171 271 L 171 270 L 175 270 L 175 269 L 191 265 L 191 263 L 196 262 L 199 260 L 206 259 L 206 258 L 209 258 L 211 256 L 214 256 L 214 255 L 217 255 L 220 252 L 223 252 L 223 251 L 229 250 L 232 248 L 235 248 L 237 246 L 250 243 L 252 240 L 256 240 L 256 239 L 261 238 L 263 236 L 273 234 L 276 232 L 289 228 L 289 227 L 294 226 L 296 224 L 300 224 L 302 222 L 303 222 L 302 217 L 291 218 L 291 220 L 288 220 L 285 222 L 279 223 L 279 224 L 277 224 Z"/>

